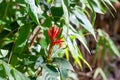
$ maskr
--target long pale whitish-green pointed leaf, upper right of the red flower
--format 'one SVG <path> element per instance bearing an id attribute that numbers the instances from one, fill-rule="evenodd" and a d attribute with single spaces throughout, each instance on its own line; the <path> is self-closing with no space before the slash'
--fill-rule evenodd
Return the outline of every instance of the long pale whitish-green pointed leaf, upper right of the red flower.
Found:
<path id="1" fill-rule="evenodd" d="M 78 20 L 80 20 L 80 24 L 87 29 L 95 38 L 96 40 L 96 36 L 95 36 L 95 32 L 94 29 L 90 23 L 90 21 L 88 20 L 88 18 L 86 17 L 86 15 L 83 12 L 80 12 L 80 10 L 76 9 L 74 11 L 74 14 L 76 15 L 76 17 L 78 18 Z"/>

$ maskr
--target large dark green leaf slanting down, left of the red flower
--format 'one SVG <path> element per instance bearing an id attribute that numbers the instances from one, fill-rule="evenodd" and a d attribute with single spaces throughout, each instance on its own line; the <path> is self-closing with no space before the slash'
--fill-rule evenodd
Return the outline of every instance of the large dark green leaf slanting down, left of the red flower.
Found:
<path id="1" fill-rule="evenodd" d="M 28 35 L 30 33 L 30 25 L 25 24 L 21 27 L 18 38 L 16 40 L 16 44 L 14 47 L 14 53 L 21 53 L 26 45 L 26 42 L 28 40 Z"/>

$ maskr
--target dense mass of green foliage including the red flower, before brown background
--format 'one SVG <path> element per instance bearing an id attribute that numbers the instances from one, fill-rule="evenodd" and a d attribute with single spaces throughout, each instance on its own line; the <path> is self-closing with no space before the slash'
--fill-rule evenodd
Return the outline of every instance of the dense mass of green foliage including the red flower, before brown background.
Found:
<path id="1" fill-rule="evenodd" d="M 0 79 L 65 80 L 74 71 L 70 53 L 74 64 L 92 70 L 77 42 L 90 53 L 85 34 L 97 41 L 96 13 L 111 12 L 108 6 L 114 9 L 110 0 L 0 0 Z M 120 57 L 109 36 L 105 40 Z"/>

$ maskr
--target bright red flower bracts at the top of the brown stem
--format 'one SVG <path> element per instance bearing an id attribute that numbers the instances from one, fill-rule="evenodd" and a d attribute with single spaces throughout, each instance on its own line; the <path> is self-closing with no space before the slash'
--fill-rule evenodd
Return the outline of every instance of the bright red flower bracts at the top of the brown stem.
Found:
<path id="1" fill-rule="evenodd" d="M 54 25 L 52 28 L 48 30 L 48 36 L 50 37 L 50 41 L 52 45 L 61 46 L 61 43 L 63 42 L 62 38 L 57 39 L 60 32 L 61 32 L 61 29 L 56 27 L 56 25 Z"/>

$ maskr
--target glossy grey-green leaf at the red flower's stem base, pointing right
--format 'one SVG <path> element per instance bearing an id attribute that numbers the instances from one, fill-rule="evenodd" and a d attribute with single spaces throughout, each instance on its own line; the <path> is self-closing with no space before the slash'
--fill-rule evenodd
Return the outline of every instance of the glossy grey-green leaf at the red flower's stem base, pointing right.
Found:
<path id="1" fill-rule="evenodd" d="M 53 58 L 53 64 L 63 69 L 73 70 L 72 65 L 64 58 L 55 57 Z"/>

